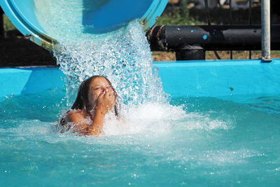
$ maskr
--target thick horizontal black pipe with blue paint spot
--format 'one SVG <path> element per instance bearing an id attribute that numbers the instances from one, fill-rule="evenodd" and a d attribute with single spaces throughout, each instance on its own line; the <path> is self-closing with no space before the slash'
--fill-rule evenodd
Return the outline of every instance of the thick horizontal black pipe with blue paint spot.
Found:
<path id="1" fill-rule="evenodd" d="M 146 36 L 151 50 L 261 50 L 260 25 L 155 26 Z M 280 50 L 280 25 L 271 37 L 272 50 Z"/>

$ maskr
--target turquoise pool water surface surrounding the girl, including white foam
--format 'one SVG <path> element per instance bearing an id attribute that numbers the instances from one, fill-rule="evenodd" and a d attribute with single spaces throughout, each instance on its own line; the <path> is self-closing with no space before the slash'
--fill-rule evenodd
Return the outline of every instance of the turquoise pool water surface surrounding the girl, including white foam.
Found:
<path id="1" fill-rule="evenodd" d="M 279 186 L 279 95 L 143 104 L 99 138 L 57 132 L 63 97 L 0 102 L 0 186 Z"/>

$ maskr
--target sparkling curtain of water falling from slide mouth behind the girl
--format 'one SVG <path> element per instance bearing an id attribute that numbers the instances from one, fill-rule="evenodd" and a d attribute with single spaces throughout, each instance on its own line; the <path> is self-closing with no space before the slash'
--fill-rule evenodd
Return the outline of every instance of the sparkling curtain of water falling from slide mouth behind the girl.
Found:
<path id="1" fill-rule="evenodd" d="M 141 25 L 137 20 L 121 29 L 116 37 L 61 41 L 54 51 L 60 69 L 66 74 L 68 95 L 76 95 L 81 81 L 93 75 L 109 78 L 125 104 L 167 102 L 158 70 L 153 67 Z M 73 103 L 73 97 L 69 102 Z"/>

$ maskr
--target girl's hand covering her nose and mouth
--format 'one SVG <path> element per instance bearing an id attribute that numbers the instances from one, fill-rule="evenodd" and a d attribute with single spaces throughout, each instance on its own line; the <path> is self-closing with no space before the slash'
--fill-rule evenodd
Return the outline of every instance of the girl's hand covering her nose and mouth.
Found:
<path id="1" fill-rule="evenodd" d="M 97 111 L 106 114 L 116 104 L 116 92 L 113 88 L 103 90 L 97 99 Z"/>

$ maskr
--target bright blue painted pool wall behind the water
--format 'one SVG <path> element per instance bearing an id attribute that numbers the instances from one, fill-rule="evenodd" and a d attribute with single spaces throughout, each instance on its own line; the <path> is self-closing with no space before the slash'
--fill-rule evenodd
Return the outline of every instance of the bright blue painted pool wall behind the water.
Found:
<path id="1" fill-rule="evenodd" d="M 172 97 L 227 97 L 279 95 L 280 59 L 195 60 L 154 62 L 162 85 Z M 64 74 L 57 67 L 1 68 L 0 100 L 52 88 L 64 89 Z"/>

